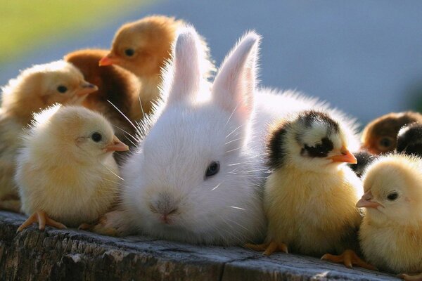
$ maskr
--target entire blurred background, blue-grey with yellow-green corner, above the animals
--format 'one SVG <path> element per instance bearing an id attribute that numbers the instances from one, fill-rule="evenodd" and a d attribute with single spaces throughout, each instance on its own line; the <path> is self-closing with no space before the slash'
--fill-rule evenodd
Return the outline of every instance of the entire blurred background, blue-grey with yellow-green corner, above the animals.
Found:
<path id="1" fill-rule="evenodd" d="M 79 48 L 110 48 L 124 22 L 191 22 L 217 65 L 246 30 L 262 34 L 262 86 L 328 100 L 362 124 L 422 110 L 422 1 L 0 0 L 0 84 Z"/>

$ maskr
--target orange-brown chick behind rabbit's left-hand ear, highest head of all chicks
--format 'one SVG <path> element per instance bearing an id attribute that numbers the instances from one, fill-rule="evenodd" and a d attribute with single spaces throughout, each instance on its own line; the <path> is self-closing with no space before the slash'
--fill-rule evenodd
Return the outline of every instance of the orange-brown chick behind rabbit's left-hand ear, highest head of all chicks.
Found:
<path id="1" fill-rule="evenodd" d="M 139 97 L 142 100 L 143 110 L 134 108 L 132 114 L 137 119 L 143 117 L 142 112 L 151 112 L 151 102 L 157 100 L 160 93 L 158 86 L 162 81 L 161 69 L 170 59 L 177 30 L 184 25 L 183 20 L 164 15 L 152 15 L 136 22 L 129 22 L 117 30 L 110 53 L 100 60 L 101 66 L 119 65 L 134 73 L 141 81 Z M 205 41 L 201 40 L 208 53 Z M 212 70 L 212 63 L 207 67 Z M 207 72 L 207 75 L 209 74 Z"/>

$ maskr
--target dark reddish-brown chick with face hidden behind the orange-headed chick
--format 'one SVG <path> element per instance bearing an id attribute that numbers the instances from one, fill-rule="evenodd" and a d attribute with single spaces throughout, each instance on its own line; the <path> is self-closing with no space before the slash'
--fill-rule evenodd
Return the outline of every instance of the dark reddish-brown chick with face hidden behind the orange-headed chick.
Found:
<path id="1" fill-rule="evenodd" d="M 131 114 L 132 107 L 138 108 L 140 103 L 139 81 L 121 67 L 100 67 L 98 62 L 107 54 L 107 50 L 85 49 L 68 53 L 64 59 L 79 68 L 87 81 L 98 86 L 98 91 L 85 98 L 82 105 L 101 112 L 115 126 L 118 138 L 129 135 L 132 138 L 129 142 L 134 142 L 135 129 L 131 122 L 136 118 Z M 144 103 L 143 107 L 146 106 Z"/>

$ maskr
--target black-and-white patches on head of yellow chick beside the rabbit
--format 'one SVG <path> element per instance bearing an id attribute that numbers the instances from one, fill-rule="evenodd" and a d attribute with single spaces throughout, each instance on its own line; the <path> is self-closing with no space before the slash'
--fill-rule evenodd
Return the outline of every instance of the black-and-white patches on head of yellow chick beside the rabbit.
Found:
<path id="1" fill-rule="evenodd" d="M 287 141 L 290 133 L 293 133 L 295 142 L 300 145 L 300 156 L 315 158 L 328 156 L 334 148 L 330 137 L 339 131 L 338 123 L 324 112 L 302 112 L 295 119 L 282 122 L 272 131 L 267 143 L 268 165 L 271 169 L 277 169 L 286 162 L 287 146 L 293 145 Z"/>

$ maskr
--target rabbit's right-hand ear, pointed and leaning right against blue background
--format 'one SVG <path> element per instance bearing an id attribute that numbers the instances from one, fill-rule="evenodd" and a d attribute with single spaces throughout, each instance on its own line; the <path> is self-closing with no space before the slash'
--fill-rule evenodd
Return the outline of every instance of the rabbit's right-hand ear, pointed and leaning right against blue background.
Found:
<path id="1" fill-rule="evenodd" d="M 212 98 L 241 118 L 250 117 L 253 109 L 259 43 L 258 34 L 246 34 L 224 60 L 212 86 Z"/>

